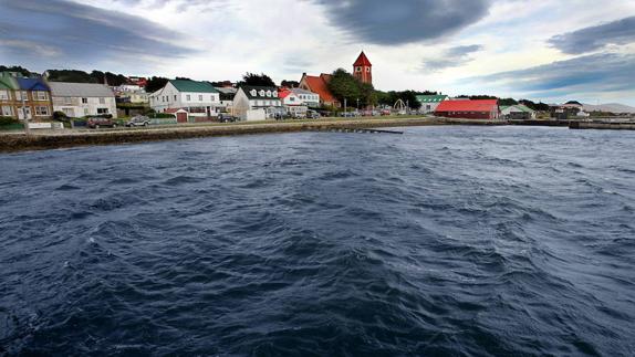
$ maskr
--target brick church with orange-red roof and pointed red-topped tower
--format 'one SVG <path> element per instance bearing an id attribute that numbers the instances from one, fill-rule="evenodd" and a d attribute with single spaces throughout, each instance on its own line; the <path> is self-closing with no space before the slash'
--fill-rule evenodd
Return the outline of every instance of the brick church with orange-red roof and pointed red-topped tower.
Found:
<path id="1" fill-rule="evenodd" d="M 353 63 L 353 75 L 362 83 L 373 84 L 373 64 L 362 51 Z M 319 76 L 302 74 L 300 88 L 311 91 L 320 95 L 320 104 L 325 106 L 342 107 L 342 103 L 329 91 L 331 74 L 322 73 Z"/>

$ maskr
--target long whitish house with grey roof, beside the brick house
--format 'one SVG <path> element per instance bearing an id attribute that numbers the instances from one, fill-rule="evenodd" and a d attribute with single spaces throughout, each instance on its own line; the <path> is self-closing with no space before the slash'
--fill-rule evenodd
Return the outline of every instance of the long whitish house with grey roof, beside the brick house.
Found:
<path id="1" fill-rule="evenodd" d="M 63 112 L 70 118 L 89 115 L 117 117 L 115 94 L 104 84 L 51 82 L 49 85 L 55 112 Z"/>

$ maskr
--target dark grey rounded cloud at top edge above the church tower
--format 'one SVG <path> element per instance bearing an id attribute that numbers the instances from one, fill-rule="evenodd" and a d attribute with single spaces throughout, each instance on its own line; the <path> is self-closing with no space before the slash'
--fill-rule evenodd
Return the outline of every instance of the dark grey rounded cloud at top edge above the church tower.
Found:
<path id="1" fill-rule="evenodd" d="M 312 0 L 331 23 L 373 44 L 404 44 L 451 34 L 483 18 L 490 0 Z"/>

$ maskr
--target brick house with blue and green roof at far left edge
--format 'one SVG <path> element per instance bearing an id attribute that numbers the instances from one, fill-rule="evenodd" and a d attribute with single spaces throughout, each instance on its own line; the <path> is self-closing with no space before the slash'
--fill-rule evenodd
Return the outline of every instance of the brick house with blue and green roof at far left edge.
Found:
<path id="1" fill-rule="evenodd" d="M 0 73 L 0 115 L 20 120 L 51 118 L 53 106 L 49 85 L 41 77 Z"/>

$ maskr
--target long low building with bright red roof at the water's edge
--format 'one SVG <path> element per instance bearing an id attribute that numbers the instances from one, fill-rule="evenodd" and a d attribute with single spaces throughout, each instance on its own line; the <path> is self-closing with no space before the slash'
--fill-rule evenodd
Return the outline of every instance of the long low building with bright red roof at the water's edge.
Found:
<path id="1" fill-rule="evenodd" d="M 441 102 L 435 115 L 448 118 L 498 119 L 500 111 L 498 99 L 456 99 Z"/>

